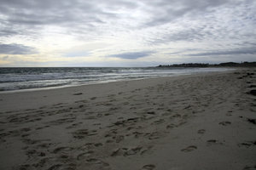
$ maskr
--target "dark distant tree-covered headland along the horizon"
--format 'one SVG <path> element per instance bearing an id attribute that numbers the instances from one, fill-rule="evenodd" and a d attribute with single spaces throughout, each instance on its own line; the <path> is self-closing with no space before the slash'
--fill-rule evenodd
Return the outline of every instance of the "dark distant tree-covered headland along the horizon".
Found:
<path id="1" fill-rule="evenodd" d="M 176 65 L 158 65 L 158 67 L 212 67 L 212 66 L 230 66 L 230 67 L 256 67 L 256 62 L 227 62 L 227 63 L 220 63 L 220 64 L 208 64 L 208 63 L 183 63 L 183 64 L 176 64 Z"/>

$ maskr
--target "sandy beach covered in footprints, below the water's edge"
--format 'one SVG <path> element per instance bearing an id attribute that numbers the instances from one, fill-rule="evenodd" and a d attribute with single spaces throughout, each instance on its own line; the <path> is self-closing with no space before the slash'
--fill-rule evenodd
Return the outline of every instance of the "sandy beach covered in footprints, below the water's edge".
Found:
<path id="1" fill-rule="evenodd" d="M 255 91 L 238 69 L 2 93 L 0 169 L 255 169 Z"/>

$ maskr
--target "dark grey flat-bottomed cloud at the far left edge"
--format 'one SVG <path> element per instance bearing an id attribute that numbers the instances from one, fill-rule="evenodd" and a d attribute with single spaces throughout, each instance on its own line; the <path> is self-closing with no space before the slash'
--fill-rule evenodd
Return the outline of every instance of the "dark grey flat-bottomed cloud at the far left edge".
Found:
<path id="1" fill-rule="evenodd" d="M 22 44 L 11 43 L 3 44 L 0 43 L 0 54 L 36 54 L 35 48 L 28 47 Z"/>

